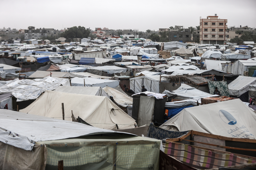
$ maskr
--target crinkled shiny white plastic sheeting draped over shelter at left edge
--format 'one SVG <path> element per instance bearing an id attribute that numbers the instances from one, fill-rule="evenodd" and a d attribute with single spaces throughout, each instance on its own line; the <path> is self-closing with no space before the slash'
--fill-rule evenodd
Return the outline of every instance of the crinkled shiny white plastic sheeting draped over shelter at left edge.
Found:
<path id="1" fill-rule="evenodd" d="M 19 102 L 37 99 L 45 90 L 54 90 L 60 85 L 69 86 L 69 80 L 49 76 L 38 80 L 15 79 L 1 86 L 0 94 L 12 93 Z"/>

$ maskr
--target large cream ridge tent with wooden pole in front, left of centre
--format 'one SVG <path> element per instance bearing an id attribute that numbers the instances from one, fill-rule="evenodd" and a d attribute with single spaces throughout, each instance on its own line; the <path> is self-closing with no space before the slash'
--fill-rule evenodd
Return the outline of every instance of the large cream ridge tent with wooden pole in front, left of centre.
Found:
<path id="1" fill-rule="evenodd" d="M 102 129 L 134 128 L 136 122 L 109 98 L 46 90 L 38 100 L 20 112 L 62 119 L 64 103 L 65 120 L 72 121 L 71 111 L 90 125 Z M 117 128 L 118 127 L 118 128 Z"/>

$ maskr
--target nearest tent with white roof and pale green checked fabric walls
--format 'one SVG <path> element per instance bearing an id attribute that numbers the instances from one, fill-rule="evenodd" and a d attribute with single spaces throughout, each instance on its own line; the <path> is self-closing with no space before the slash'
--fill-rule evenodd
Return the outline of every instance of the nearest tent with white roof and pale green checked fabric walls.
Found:
<path id="1" fill-rule="evenodd" d="M 159 162 L 160 140 L 78 122 L 3 109 L 0 131 L 1 169 L 58 169 L 59 160 L 64 169 L 147 169 Z"/>

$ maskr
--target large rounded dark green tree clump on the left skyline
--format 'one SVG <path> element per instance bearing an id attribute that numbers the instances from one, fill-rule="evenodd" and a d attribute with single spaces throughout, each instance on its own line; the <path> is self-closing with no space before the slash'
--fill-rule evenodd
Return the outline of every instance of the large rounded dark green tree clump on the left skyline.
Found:
<path id="1" fill-rule="evenodd" d="M 90 34 L 90 31 L 84 27 L 71 27 L 69 30 L 66 30 L 61 34 L 62 37 L 65 38 L 87 38 Z"/>

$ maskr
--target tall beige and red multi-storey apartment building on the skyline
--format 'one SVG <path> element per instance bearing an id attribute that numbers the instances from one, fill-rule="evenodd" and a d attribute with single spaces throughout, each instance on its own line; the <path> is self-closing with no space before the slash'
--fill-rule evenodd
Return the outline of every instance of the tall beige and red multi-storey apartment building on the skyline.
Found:
<path id="1" fill-rule="evenodd" d="M 200 17 L 200 44 L 224 44 L 226 38 L 227 19 L 215 16 Z"/>

